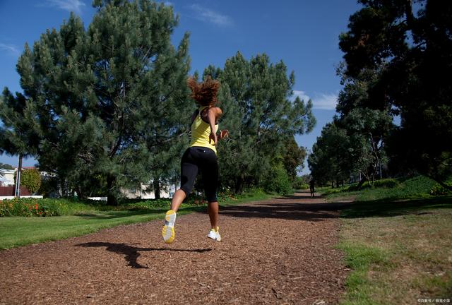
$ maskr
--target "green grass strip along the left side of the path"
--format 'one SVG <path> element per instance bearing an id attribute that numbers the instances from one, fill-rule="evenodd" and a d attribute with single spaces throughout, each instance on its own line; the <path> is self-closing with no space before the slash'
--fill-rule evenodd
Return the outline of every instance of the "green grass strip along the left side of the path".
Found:
<path id="1" fill-rule="evenodd" d="M 220 202 L 220 205 L 236 205 L 249 201 L 259 201 L 270 198 L 270 196 L 272 195 L 254 191 L 245 193 L 237 199 Z M 55 204 L 59 204 L 58 201 L 55 201 Z M 77 237 L 117 225 L 163 219 L 165 212 L 169 208 L 169 201 L 167 205 L 162 207 L 153 206 L 149 202 L 136 202 L 115 207 L 118 210 L 109 210 L 112 207 L 106 205 L 86 205 L 83 203 L 71 203 L 69 208 L 65 208 L 64 202 L 61 202 L 61 206 L 61 209 L 66 211 L 65 213 L 76 215 L 0 217 L 0 249 Z M 184 215 L 203 210 L 206 210 L 206 205 L 183 203 L 178 214 Z"/>

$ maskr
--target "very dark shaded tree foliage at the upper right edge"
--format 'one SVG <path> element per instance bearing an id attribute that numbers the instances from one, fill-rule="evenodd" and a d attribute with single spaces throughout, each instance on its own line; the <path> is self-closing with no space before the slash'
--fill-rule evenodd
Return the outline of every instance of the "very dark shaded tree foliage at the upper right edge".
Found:
<path id="1" fill-rule="evenodd" d="M 355 88 L 365 80 L 359 94 L 367 99 L 365 107 L 386 105 L 400 114 L 400 127 L 387 141 L 393 172 L 415 170 L 447 189 L 444 181 L 452 173 L 452 85 L 447 77 L 452 75 L 452 3 L 360 2 L 364 8 L 350 17 L 349 31 L 340 36 L 343 76 Z M 364 106 L 362 99 L 349 96 L 352 103 L 340 111 Z"/>

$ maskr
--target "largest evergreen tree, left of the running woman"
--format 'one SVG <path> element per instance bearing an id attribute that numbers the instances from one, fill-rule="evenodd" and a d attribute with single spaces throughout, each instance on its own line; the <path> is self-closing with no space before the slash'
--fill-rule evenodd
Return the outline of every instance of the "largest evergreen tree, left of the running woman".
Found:
<path id="1" fill-rule="evenodd" d="M 178 18 L 153 1 L 93 1 L 85 30 L 71 13 L 18 61 L 24 115 L 40 168 L 85 195 L 89 177 L 105 181 L 108 203 L 121 188 L 148 183 L 183 133 L 188 34 L 174 49 Z M 13 109 L 20 95 L 4 93 Z M 11 110 L 12 111 L 12 110 Z M 4 120 L 4 118 L 2 118 Z M 166 143 L 166 145 L 162 145 Z"/>

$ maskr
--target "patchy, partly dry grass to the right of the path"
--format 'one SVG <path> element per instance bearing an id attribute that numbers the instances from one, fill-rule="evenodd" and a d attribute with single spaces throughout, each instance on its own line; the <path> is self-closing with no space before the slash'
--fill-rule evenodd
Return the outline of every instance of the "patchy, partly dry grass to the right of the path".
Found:
<path id="1" fill-rule="evenodd" d="M 352 269 L 341 304 L 452 303 L 452 196 L 429 196 L 422 179 L 329 196 L 357 198 L 340 219 Z"/>

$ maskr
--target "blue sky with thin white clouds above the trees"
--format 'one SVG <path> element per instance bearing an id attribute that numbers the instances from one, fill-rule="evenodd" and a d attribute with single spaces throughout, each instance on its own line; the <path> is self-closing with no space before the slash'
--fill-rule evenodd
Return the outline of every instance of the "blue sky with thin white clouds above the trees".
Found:
<path id="1" fill-rule="evenodd" d="M 270 60 L 283 60 L 295 71 L 294 92 L 314 102 L 316 128 L 297 136 L 309 150 L 321 128 L 335 114 L 335 99 L 341 89 L 335 67 L 342 60 L 340 32 L 359 9 L 356 0 L 172 0 L 180 23 L 172 37 L 178 44 L 190 32 L 191 69 L 202 72 L 209 64 L 224 66 L 237 51 L 247 59 L 266 53 Z M 16 72 L 25 42 L 32 45 L 48 28 L 59 29 L 69 12 L 81 16 L 88 28 L 95 9 L 90 0 L 0 0 L 0 86 L 21 91 Z M 0 155 L 0 162 L 17 164 L 17 157 Z M 25 166 L 35 165 L 30 158 Z M 307 173 L 304 169 L 304 173 Z"/>

